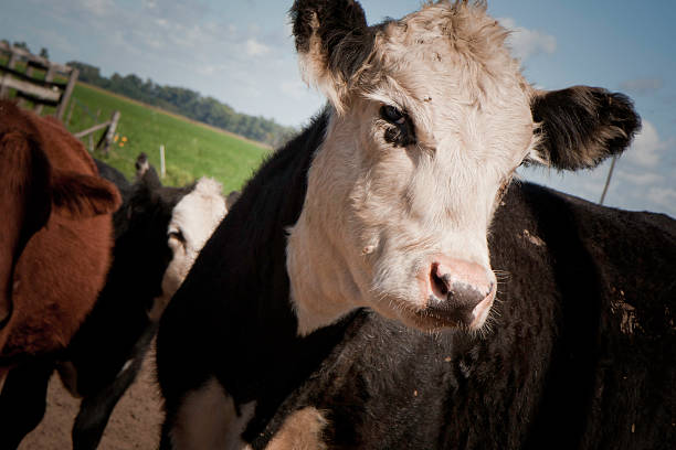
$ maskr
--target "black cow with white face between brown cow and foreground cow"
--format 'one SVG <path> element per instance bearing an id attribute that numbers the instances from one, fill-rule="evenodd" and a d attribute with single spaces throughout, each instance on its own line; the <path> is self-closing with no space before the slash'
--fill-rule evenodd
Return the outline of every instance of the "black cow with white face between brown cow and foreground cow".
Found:
<path id="1" fill-rule="evenodd" d="M 3 395 L 15 403 L 0 401 L 0 410 L 20 407 L 33 418 L 0 424 L 2 442 L 11 448 L 44 416 L 54 368 L 68 392 L 82 398 L 73 448 L 98 446 L 115 405 L 140 371 L 162 310 L 226 213 L 222 188 L 212 179 L 182 188 L 163 186 L 155 169 L 147 165 L 137 173 L 137 182 L 129 184 L 116 169 L 99 160 L 96 164 L 124 199 L 114 215 L 113 264 L 91 313 L 67 349 L 51 365 L 43 364 L 42 376 L 27 376 L 30 367 L 10 373 Z"/>

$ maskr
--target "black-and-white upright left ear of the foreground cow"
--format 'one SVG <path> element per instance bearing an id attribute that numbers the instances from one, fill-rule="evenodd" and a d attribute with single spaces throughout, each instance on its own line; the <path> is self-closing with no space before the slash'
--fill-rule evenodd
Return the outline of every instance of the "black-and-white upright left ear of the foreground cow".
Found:
<path id="1" fill-rule="evenodd" d="M 341 113 L 359 67 L 373 49 L 373 32 L 355 0 L 296 0 L 289 11 L 305 81 Z"/>

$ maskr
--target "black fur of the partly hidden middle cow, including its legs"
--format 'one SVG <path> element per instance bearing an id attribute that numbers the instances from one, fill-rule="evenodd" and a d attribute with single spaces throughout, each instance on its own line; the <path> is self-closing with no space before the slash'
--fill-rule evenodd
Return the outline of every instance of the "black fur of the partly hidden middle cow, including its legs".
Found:
<path id="1" fill-rule="evenodd" d="M 8 420 L 0 424 L 12 426 L 2 428 L 0 448 L 14 448 L 40 424 L 50 376 L 54 367 L 67 362 L 77 371 L 76 385 L 68 387 L 82 396 L 73 448 L 95 449 L 157 332 L 158 323 L 149 319 L 148 311 L 161 294 L 162 277 L 172 258 L 167 227 L 173 207 L 194 185 L 165 188 L 155 170 L 130 185 L 114 168 L 102 161 L 96 164 L 101 175 L 117 183 L 124 199 L 114 215 L 115 248 L 106 285 L 59 361 L 41 360 L 31 363 L 36 367 L 19 366 L 10 372 L 0 396 L 0 417 L 7 415 Z M 131 364 L 120 373 L 127 361 Z"/>

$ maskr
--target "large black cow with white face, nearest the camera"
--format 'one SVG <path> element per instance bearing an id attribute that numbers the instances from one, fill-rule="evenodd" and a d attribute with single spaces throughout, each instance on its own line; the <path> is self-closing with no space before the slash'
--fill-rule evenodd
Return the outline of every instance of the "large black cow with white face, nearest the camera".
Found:
<path id="1" fill-rule="evenodd" d="M 674 448 L 676 222 L 513 180 L 620 154 L 631 100 L 532 87 L 482 2 L 291 17 L 328 105 L 162 315 L 160 448 Z"/>

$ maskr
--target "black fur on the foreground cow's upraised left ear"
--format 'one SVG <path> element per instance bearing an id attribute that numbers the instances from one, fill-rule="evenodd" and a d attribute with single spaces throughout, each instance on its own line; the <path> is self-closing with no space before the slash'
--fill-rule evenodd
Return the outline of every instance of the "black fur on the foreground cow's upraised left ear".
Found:
<path id="1" fill-rule="evenodd" d="M 316 33 L 326 68 L 340 73 L 345 81 L 349 81 L 371 54 L 373 30 L 367 25 L 363 10 L 355 0 L 298 0 L 289 14 L 298 53 L 310 51 L 310 39 Z M 317 30 L 313 29 L 315 17 Z"/>

